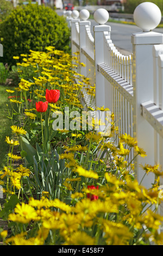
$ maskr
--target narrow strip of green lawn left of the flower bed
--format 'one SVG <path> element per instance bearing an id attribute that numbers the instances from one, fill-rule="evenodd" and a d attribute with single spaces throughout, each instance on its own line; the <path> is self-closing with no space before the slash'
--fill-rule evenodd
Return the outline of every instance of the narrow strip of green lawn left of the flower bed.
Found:
<path id="1" fill-rule="evenodd" d="M 8 109 L 7 104 L 8 93 L 6 89 L 9 89 L 7 86 L 0 84 L 0 167 L 2 168 L 5 165 L 7 160 L 8 144 L 5 143 L 5 137 L 11 135 L 10 126 L 12 125 L 11 119 L 8 118 Z"/>

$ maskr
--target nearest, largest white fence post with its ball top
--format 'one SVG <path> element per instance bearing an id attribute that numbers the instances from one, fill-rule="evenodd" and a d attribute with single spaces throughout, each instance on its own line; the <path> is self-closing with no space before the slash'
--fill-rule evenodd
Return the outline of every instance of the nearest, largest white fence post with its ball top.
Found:
<path id="1" fill-rule="evenodd" d="M 141 114 L 141 103 L 154 102 L 153 45 L 162 44 L 163 34 L 152 32 L 159 25 L 161 12 L 153 3 L 142 3 L 134 11 L 134 20 L 142 32 L 131 36 L 133 44 L 133 87 L 134 87 L 134 136 L 147 156 L 136 159 L 136 179 L 140 182 L 145 163 L 154 165 L 154 129 Z M 147 175 L 142 184 L 151 187 L 154 175 Z"/>

